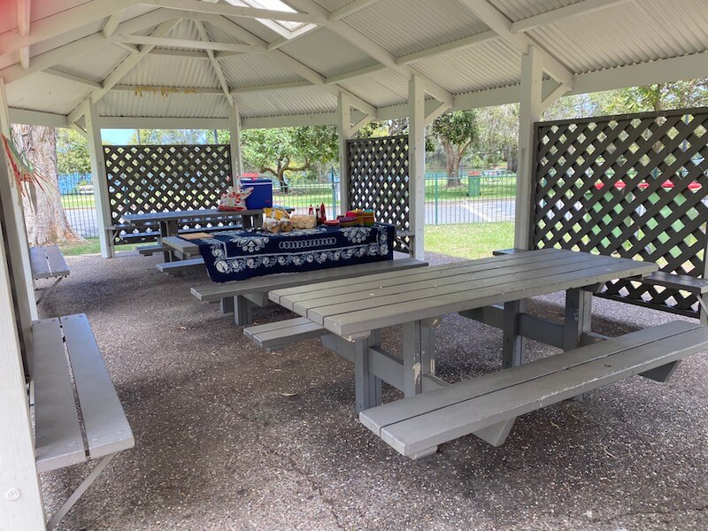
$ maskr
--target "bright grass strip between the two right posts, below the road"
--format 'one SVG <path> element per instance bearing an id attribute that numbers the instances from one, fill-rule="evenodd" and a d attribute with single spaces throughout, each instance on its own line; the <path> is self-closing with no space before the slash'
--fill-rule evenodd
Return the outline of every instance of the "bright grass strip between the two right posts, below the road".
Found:
<path id="1" fill-rule="evenodd" d="M 426 250 L 451 257 L 487 258 L 514 243 L 511 221 L 426 227 Z"/>

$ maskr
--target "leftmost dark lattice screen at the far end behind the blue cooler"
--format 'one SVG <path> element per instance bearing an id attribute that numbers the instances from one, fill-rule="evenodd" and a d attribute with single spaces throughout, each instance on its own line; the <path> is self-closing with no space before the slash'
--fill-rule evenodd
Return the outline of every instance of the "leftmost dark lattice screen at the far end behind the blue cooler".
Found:
<path id="1" fill-rule="evenodd" d="M 114 224 L 127 213 L 214 208 L 230 184 L 228 145 L 104 146 L 104 157 Z"/>

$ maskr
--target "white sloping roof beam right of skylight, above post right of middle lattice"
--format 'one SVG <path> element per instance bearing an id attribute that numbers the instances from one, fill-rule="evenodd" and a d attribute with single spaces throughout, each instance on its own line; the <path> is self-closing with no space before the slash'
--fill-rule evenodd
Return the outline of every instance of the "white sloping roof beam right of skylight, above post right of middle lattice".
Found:
<path id="1" fill-rule="evenodd" d="M 293 4 L 303 5 L 309 12 L 317 13 L 325 19 L 332 16 L 332 13 L 327 12 L 327 10 L 320 7 L 319 4 L 313 2 L 313 0 L 297 0 L 296 2 L 293 2 Z M 397 73 L 402 74 L 406 79 L 410 80 L 413 75 L 417 75 L 420 81 L 423 81 L 425 91 L 430 96 L 433 96 L 446 104 L 452 104 L 452 95 L 447 89 L 444 89 L 438 83 L 419 73 L 411 66 L 396 65 L 396 57 L 391 54 L 389 50 L 385 50 L 376 42 L 373 42 L 365 35 L 360 34 L 356 29 L 350 27 L 349 24 L 346 24 L 342 20 L 328 20 L 324 26 L 332 29 L 335 34 L 342 37 L 345 41 L 350 42 L 352 46 L 365 52 L 371 58 L 377 60 L 381 63 L 381 65 L 385 65 L 392 70 L 395 70 Z"/>

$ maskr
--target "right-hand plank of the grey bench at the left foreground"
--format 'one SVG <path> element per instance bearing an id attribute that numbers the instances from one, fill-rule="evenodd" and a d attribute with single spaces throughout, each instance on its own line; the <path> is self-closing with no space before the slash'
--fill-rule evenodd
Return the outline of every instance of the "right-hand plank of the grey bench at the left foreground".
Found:
<path id="1" fill-rule="evenodd" d="M 89 457 L 100 458 L 133 448 L 133 432 L 98 350 L 89 319 L 83 313 L 60 319 L 81 404 Z"/>

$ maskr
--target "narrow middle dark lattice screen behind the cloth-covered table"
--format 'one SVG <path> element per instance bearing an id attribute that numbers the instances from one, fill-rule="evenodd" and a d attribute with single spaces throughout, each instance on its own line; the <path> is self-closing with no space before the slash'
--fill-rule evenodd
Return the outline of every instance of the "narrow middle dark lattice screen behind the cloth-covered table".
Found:
<path id="1" fill-rule="evenodd" d="M 347 141 L 349 208 L 370 209 L 376 219 L 408 231 L 408 136 Z M 396 238 L 395 249 L 409 251 L 410 238 Z"/>

